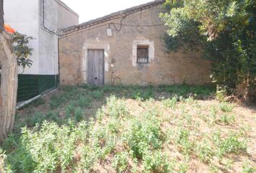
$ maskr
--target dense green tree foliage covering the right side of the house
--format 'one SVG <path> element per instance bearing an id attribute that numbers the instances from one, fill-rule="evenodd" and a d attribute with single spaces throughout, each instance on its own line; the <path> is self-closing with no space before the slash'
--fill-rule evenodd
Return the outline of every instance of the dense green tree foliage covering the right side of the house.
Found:
<path id="1" fill-rule="evenodd" d="M 213 81 L 256 98 L 256 1 L 166 0 L 169 50 L 201 48 Z"/>

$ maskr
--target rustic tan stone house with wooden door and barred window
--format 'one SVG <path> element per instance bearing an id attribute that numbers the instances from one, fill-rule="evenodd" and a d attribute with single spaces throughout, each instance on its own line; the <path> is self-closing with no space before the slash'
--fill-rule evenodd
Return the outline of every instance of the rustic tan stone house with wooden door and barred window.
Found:
<path id="1" fill-rule="evenodd" d="M 61 84 L 207 84 L 210 62 L 198 52 L 168 53 L 163 0 L 61 30 Z"/>

